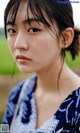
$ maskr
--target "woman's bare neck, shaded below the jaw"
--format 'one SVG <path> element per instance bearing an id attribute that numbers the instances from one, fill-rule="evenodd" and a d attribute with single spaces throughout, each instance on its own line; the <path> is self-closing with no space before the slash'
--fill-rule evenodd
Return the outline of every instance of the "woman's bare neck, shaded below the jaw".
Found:
<path id="1" fill-rule="evenodd" d="M 62 68 L 64 68 L 63 61 L 59 60 L 51 66 L 47 66 L 43 70 L 37 72 L 38 81 L 37 88 L 44 93 L 58 91 L 58 81 L 60 79 Z"/>

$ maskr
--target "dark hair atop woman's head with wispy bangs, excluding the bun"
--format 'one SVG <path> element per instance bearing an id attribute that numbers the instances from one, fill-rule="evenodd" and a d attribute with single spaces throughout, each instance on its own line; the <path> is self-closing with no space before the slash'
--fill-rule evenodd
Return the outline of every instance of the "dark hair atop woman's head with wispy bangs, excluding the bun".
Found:
<path id="1" fill-rule="evenodd" d="M 4 27 L 5 27 L 6 36 L 7 36 L 6 25 L 7 23 L 10 23 L 12 25 L 15 24 L 16 15 L 21 1 L 24 0 L 10 0 L 10 2 L 6 7 L 4 15 L 4 22 L 5 22 Z M 57 0 L 25 0 L 25 1 L 27 5 L 26 17 L 30 25 L 31 21 L 30 21 L 29 11 L 32 13 L 37 23 L 42 22 L 43 25 L 46 27 L 46 29 L 51 30 L 51 26 L 52 25 L 54 26 L 54 21 L 56 21 L 56 24 L 61 31 L 69 27 L 70 25 L 72 26 L 73 23 L 72 10 L 71 10 L 71 5 L 69 3 L 60 4 L 57 2 Z M 67 20 L 69 21 L 69 23 L 66 23 Z"/>

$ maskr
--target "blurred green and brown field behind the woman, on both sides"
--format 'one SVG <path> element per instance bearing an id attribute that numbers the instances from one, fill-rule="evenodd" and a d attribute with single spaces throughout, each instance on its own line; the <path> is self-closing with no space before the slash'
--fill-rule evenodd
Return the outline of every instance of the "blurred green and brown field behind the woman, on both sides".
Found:
<path id="1" fill-rule="evenodd" d="M 72 61 L 69 52 L 65 58 L 68 66 L 77 74 L 80 74 L 80 54 Z M 10 89 L 20 80 L 25 79 L 29 74 L 20 73 L 13 57 L 9 51 L 3 29 L 0 29 L 0 123 L 6 108 L 7 98 Z"/>

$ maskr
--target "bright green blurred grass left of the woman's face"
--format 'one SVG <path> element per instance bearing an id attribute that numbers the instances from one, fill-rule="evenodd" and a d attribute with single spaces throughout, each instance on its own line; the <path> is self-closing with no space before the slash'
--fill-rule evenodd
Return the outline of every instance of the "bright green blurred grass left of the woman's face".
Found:
<path id="1" fill-rule="evenodd" d="M 0 37 L 0 74 L 18 73 L 19 70 L 15 65 L 13 57 L 9 51 L 6 39 Z"/>

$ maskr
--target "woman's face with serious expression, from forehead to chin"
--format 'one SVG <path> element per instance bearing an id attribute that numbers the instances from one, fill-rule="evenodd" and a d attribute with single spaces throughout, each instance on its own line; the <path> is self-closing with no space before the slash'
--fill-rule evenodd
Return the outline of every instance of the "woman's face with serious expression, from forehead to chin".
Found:
<path id="1" fill-rule="evenodd" d="M 7 25 L 9 48 L 22 72 L 38 72 L 55 65 L 60 58 L 58 31 L 48 31 L 40 22 L 37 23 L 29 11 L 31 25 L 27 21 L 27 3 L 22 1 L 16 16 L 15 25 Z"/>

